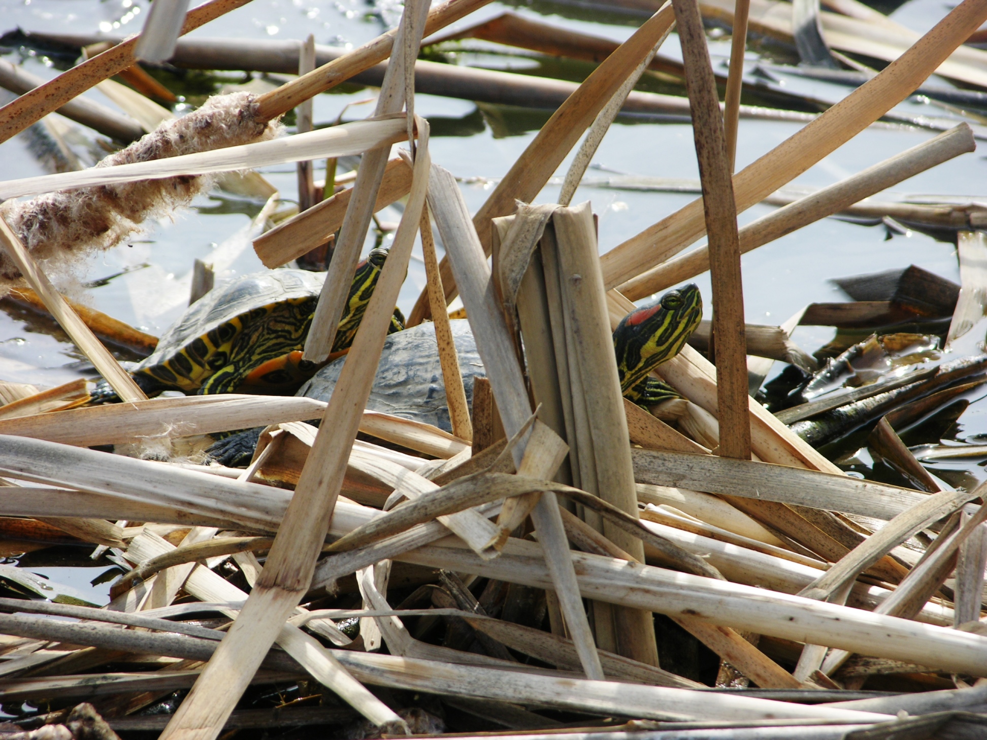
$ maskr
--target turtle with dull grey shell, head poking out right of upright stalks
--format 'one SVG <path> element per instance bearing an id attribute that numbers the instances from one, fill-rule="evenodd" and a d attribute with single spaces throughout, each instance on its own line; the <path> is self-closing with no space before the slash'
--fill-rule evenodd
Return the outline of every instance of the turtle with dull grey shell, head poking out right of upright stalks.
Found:
<path id="1" fill-rule="evenodd" d="M 699 288 L 690 283 L 668 291 L 654 305 L 637 309 L 621 321 L 614 331 L 614 349 L 621 390 L 626 398 L 645 407 L 680 398 L 670 386 L 650 378 L 648 373 L 682 349 L 702 316 L 702 296 Z M 486 371 L 469 322 L 454 319 L 449 324 L 467 400 L 472 403 L 474 382 L 478 377 L 485 377 Z M 344 362 L 344 358 L 330 362 L 296 395 L 328 402 Z M 432 324 L 425 322 L 387 337 L 366 408 L 452 431 Z M 258 427 L 230 435 L 213 444 L 208 452 L 222 465 L 245 465 L 254 453 L 261 431 Z"/>

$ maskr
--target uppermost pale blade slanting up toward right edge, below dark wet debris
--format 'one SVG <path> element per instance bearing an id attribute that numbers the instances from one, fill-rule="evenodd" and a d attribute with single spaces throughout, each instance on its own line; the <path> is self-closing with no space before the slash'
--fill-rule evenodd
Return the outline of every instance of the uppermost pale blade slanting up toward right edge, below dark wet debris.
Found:
<path id="1" fill-rule="evenodd" d="M 920 529 L 948 516 L 964 503 L 980 496 L 983 492 L 982 487 L 978 486 L 972 492 L 944 490 L 906 509 L 829 568 L 825 575 L 803 588 L 798 595 L 820 601 L 830 598 L 847 581 L 856 578 L 859 573 L 867 570 L 883 555 L 890 553 Z"/>

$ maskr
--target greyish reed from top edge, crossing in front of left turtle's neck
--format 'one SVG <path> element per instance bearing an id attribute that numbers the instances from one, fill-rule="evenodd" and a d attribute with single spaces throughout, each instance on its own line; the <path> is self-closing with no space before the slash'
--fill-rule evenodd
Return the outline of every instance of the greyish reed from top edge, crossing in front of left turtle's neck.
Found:
<path id="1" fill-rule="evenodd" d="M 402 23 L 395 35 L 394 45 L 403 52 L 407 42 L 414 43 L 418 48 L 421 33 L 424 30 L 425 16 L 428 4 L 414 4 L 415 13 L 405 13 Z M 408 6 L 406 6 L 407 8 Z M 384 82 L 377 97 L 377 108 L 374 115 L 386 115 L 400 112 L 405 107 L 405 54 L 392 54 L 392 63 L 388 65 Z M 414 74 L 414 71 L 412 72 Z M 411 123 L 409 123 L 411 125 Z M 356 182 L 346 206 L 346 214 L 342 219 L 339 239 L 333 249 L 333 260 L 330 262 L 326 282 L 323 283 L 319 294 L 319 303 L 312 316 L 312 327 L 305 337 L 304 359 L 310 362 L 325 362 L 333 349 L 333 340 L 342 318 L 346 297 L 353 281 L 353 272 L 366 241 L 367 229 L 373 218 L 373 207 L 377 200 L 377 192 L 384 179 L 384 170 L 391 153 L 391 147 L 385 146 L 364 152 L 360 167 L 356 171 Z M 418 224 L 416 223 L 416 229 Z"/>

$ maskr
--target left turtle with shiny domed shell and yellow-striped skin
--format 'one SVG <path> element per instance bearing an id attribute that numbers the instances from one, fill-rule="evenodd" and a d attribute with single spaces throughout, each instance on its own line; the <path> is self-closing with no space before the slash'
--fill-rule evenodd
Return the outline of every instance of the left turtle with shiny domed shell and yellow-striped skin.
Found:
<path id="1" fill-rule="evenodd" d="M 387 250 L 375 249 L 357 265 L 333 353 L 352 344 L 386 259 Z M 134 381 L 148 396 L 294 393 L 317 369 L 301 349 L 325 280 L 325 272 L 278 268 L 214 288 L 130 371 Z M 400 332 L 404 321 L 395 308 L 389 331 Z M 91 403 L 115 400 L 105 381 L 91 395 Z"/>

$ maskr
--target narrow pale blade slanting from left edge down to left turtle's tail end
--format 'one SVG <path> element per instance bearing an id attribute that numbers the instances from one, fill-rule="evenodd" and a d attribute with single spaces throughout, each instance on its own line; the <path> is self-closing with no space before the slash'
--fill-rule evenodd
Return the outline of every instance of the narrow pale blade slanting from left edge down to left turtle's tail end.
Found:
<path id="1" fill-rule="evenodd" d="M 129 373 L 120 367 L 110 351 L 96 338 L 96 334 L 85 325 L 79 315 L 72 311 L 61 294 L 55 290 L 47 276 L 38 267 L 38 263 L 25 249 L 21 239 L 3 218 L 0 218 L 0 241 L 3 243 L 7 256 L 17 264 L 21 274 L 24 275 L 44 303 L 48 313 L 54 317 L 58 325 L 65 330 L 65 333 L 72 337 L 72 341 L 89 358 L 100 375 L 106 378 L 116 395 L 123 401 L 146 400 L 147 397 L 144 392 L 137 387 Z"/>

